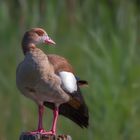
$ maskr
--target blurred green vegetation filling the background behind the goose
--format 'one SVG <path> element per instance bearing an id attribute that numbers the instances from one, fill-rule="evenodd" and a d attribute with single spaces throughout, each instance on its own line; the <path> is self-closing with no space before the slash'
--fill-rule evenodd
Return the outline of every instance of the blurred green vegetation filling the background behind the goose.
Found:
<path id="1" fill-rule="evenodd" d="M 140 1 L 139 0 L 1 0 L 0 1 L 0 140 L 18 140 L 37 126 L 37 106 L 15 84 L 23 59 L 21 38 L 42 27 L 76 73 L 89 81 L 83 95 L 90 126 L 80 129 L 60 117 L 58 133 L 74 140 L 140 139 Z M 52 112 L 46 109 L 44 126 Z"/>

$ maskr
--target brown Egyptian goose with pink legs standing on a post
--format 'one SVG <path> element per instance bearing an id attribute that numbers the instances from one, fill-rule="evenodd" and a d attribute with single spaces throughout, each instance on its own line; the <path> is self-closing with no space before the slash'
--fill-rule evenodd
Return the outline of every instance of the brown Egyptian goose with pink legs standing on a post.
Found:
<path id="1" fill-rule="evenodd" d="M 16 83 L 20 92 L 38 105 L 38 128 L 29 133 L 56 134 L 58 115 L 64 115 L 80 127 L 88 127 L 88 108 L 80 92 L 80 86 L 87 85 L 79 80 L 69 62 L 58 55 L 46 55 L 37 48 L 40 44 L 55 45 L 41 28 L 27 31 L 22 40 L 24 60 L 18 65 Z M 42 125 L 44 106 L 54 110 L 50 131 Z"/>

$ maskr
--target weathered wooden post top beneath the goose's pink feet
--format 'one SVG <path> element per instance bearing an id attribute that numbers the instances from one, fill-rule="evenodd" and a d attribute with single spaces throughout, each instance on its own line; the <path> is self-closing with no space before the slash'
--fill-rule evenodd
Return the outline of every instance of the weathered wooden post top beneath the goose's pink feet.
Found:
<path id="1" fill-rule="evenodd" d="M 42 135 L 42 134 L 31 135 L 27 133 L 22 133 L 20 135 L 19 140 L 72 140 L 72 138 L 69 135 L 53 136 L 53 135 Z"/>

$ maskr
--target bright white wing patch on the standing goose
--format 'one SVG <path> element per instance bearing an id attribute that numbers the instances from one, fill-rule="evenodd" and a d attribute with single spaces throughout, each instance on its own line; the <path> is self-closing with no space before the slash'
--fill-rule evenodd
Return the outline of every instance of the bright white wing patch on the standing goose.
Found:
<path id="1" fill-rule="evenodd" d="M 77 91 L 77 81 L 73 73 L 62 71 L 59 72 L 59 75 L 62 80 L 62 86 L 65 90 L 70 93 Z"/>

